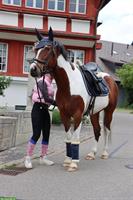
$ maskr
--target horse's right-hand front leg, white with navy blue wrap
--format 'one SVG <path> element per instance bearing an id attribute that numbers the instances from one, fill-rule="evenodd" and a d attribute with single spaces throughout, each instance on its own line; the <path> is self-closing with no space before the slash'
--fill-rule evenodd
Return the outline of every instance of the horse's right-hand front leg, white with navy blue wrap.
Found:
<path id="1" fill-rule="evenodd" d="M 74 130 L 71 137 L 71 159 L 72 160 L 68 167 L 69 172 L 73 172 L 78 169 L 81 125 L 82 125 L 82 122 L 80 122 L 79 126 Z"/>

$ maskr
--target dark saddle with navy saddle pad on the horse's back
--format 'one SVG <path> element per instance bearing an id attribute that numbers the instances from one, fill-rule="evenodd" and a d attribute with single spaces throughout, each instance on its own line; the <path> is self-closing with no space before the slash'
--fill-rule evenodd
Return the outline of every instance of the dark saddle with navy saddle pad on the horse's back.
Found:
<path id="1" fill-rule="evenodd" d="M 80 66 L 83 80 L 90 96 L 107 96 L 109 93 L 108 86 L 102 77 L 98 77 L 98 65 L 95 62 L 89 62 Z"/>

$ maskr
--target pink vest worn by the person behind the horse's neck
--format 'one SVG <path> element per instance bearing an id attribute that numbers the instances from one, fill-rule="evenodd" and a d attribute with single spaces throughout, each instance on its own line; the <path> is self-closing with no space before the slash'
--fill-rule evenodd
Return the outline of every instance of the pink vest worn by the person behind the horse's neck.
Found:
<path id="1" fill-rule="evenodd" d="M 41 77 L 39 81 L 42 81 L 43 80 L 43 77 Z M 53 99 L 54 97 L 54 88 L 53 88 L 53 85 L 52 85 L 52 79 L 50 78 L 49 75 L 45 75 L 45 79 L 44 79 L 45 83 L 47 84 L 47 89 L 48 89 L 48 96 L 49 98 Z M 35 102 L 40 102 L 40 98 L 39 98 L 39 95 L 38 95 L 38 91 L 39 91 L 39 94 L 40 94 L 40 97 L 41 97 L 41 102 L 42 103 L 46 103 L 48 105 L 50 105 L 48 102 L 45 102 L 44 98 L 43 98 L 43 95 L 41 93 L 41 91 L 37 90 L 37 85 L 35 84 L 34 86 L 34 89 L 33 89 L 33 93 L 32 93 L 32 102 L 35 103 Z"/>

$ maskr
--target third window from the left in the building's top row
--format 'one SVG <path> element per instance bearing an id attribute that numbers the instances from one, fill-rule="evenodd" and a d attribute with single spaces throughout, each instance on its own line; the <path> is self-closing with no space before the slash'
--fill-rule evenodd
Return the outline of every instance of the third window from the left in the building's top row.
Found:
<path id="1" fill-rule="evenodd" d="M 64 11 L 65 10 L 65 0 L 49 0 L 48 1 L 48 9 Z"/>

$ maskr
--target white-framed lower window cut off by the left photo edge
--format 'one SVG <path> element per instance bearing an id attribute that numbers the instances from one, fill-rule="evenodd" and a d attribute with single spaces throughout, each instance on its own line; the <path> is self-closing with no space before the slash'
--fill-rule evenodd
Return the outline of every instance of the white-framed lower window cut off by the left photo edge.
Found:
<path id="1" fill-rule="evenodd" d="M 5 43 L 0 43 L 0 71 L 7 71 L 7 51 L 8 46 Z"/>

